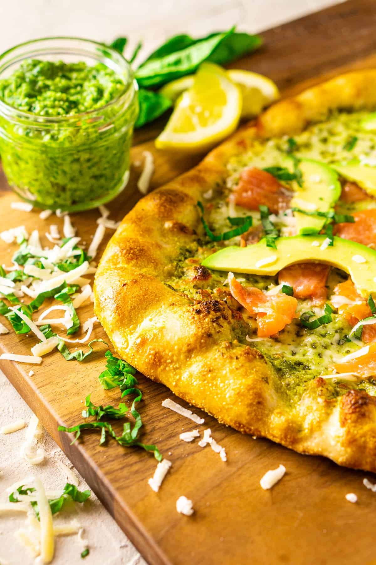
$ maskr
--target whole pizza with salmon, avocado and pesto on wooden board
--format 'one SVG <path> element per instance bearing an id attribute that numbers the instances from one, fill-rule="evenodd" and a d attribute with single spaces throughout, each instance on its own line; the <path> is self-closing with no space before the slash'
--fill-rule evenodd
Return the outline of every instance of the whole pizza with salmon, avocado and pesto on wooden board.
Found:
<path id="1" fill-rule="evenodd" d="M 144 375 L 240 432 L 369 471 L 374 110 L 376 70 L 276 103 L 137 203 L 94 291 Z"/>

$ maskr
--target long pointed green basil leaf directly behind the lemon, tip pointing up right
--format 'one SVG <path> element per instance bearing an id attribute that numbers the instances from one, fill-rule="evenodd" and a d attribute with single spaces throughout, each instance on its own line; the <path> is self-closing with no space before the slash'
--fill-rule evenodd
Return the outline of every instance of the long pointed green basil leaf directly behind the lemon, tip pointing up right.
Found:
<path id="1" fill-rule="evenodd" d="M 198 41 L 180 51 L 149 59 L 137 69 L 136 80 L 140 86 L 157 87 L 193 73 L 202 62 L 209 58 L 220 42 L 234 32 L 234 29 L 215 34 L 207 40 Z"/>

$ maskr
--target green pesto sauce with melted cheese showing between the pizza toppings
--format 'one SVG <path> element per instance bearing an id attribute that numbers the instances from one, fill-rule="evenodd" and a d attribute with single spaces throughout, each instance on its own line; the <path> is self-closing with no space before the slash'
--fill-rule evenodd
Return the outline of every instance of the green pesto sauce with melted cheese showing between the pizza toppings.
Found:
<path id="1" fill-rule="evenodd" d="M 303 133 L 294 136 L 294 155 L 298 158 L 320 160 L 327 164 L 359 159 L 375 159 L 375 135 L 373 132 L 362 131 L 360 122 L 369 112 L 337 112 L 324 123 L 313 124 Z M 266 168 L 277 166 L 289 151 L 289 141 L 286 138 L 268 141 L 255 141 L 249 153 L 232 157 L 228 164 L 228 179 L 225 186 L 217 186 L 204 202 L 206 221 L 215 233 L 223 233 L 230 229 L 227 217 L 253 216 L 253 225 L 260 223 L 258 211 L 251 211 L 241 206 L 229 204 L 228 197 L 237 185 L 240 174 L 246 167 Z M 345 203 L 338 201 L 336 210 L 339 213 L 350 214 L 357 210 L 376 207 L 376 199 L 367 198 L 359 202 Z M 287 210 L 273 218 L 281 234 L 289 235 L 291 229 L 291 214 Z M 230 307 L 236 307 L 231 294 L 228 292 L 227 273 L 220 271 L 203 271 L 201 261 L 223 245 L 239 245 L 240 237 L 229 241 L 212 242 L 204 238 L 197 242 L 195 248 L 180 254 L 166 283 L 177 292 L 183 293 L 193 302 L 211 297 L 223 299 Z M 332 269 L 328 279 L 328 300 L 334 286 L 347 280 L 348 275 L 337 269 Z M 278 284 L 277 276 L 256 276 L 241 274 L 237 280 L 245 286 L 255 286 L 268 290 Z M 235 301 L 236 302 L 236 301 Z M 316 307 L 312 301 L 298 301 L 297 315 L 304 310 L 313 310 L 317 316 L 322 315 L 323 306 Z M 304 392 L 304 384 L 320 375 L 333 373 L 331 364 L 338 362 L 344 355 L 355 352 L 359 346 L 346 340 L 351 331 L 351 325 L 343 316 L 334 310 L 332 321 L 316 329 L 302 326 L 299 317 L 287 324 L 277 336 L 262 341 L 248 341 L 256 337 L 255 319 L 242 308 L 246 321 L 244 328 L 237 333 L 237 340 L 243 345 L 255 347 L 276 371 L 281 380 L 282 390 L 287 394 L 286 399 L 300 397 Z M 368 379 L 359 383 L 341 380 L 328 381 L 332 387 L 333 397 L 347 392 L 349 388 L 365 389 L 376 396 L 376 380 Z"/>

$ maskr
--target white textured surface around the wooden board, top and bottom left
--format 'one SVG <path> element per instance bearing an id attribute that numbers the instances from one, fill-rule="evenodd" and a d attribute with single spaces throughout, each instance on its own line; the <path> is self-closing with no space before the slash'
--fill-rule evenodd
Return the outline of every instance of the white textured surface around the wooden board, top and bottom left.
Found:
<path id="1" fill-rule="evenodd" d="M 239 24 L 244 31 L 259 32 L 335 3 L 333 0 L 0 0 L 0 51 L 38 37 L 70 35 L 108 42 L 117 36 L 128 36 L 130 50 L 142 40 L 143 53 L 147 53 L 175 33 L 200 36 L 228 29 L 232 24 Z M 1 255 L 0 263 L 3 263 Z M 31 414 L 28 406 L 1 372 L 0 390 L 0 427 L 20 418 L 28 421 Z M 32 473 L 40 476 L 50 489 L 63 488 L 66 482 L 56 459 L 66 463 L 67 459 L 50 437 L 45 440 L 45 464 L 30 467 L 21 459 L 19 446 L 24 434 L 21 430 L 0 436 L 1 502 L 5 501 L 3 490 L 7 486 Z M 83 481 L 79 488 L 85 488 Z M 82 561 L 76 538 L 59 538 L 55 565 L 145 563 L 98 499 L 92 497 L 85 509 L 77 506 L 77 518 L 85 525 L 90 555 Z M 0 516 L 1 565 L 34 563 L 13 537 L 22 521 Z"/>

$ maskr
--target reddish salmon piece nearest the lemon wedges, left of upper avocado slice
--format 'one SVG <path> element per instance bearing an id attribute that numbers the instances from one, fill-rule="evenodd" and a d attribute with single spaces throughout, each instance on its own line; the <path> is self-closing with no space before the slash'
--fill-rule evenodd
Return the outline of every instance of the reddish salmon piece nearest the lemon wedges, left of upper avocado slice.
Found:
<path id="1" fill-rule="evenodd" d="M 239 184 L 231 194 L 235 204 L 258 210 L 260 205 L 268 206 L 273 214 L 289 207 L 293 193 L 276 177 L 262 169 L 247 168 L 240 175 Z"/>

